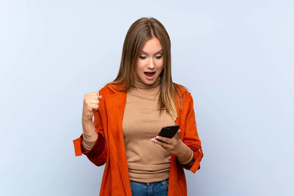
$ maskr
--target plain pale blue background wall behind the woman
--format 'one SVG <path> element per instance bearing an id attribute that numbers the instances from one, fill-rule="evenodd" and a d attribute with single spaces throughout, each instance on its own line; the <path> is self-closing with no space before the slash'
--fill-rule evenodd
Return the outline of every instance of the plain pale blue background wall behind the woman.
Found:
<path id="1" fill-rule="evenodd" d="M 294 1 L 0 1 L 0 195 L 98 196 L 75 157 L 84 94 L 112 81 L 129 26 L 165 25 L 195 101 L 189 196 L 294 195 Z"/>

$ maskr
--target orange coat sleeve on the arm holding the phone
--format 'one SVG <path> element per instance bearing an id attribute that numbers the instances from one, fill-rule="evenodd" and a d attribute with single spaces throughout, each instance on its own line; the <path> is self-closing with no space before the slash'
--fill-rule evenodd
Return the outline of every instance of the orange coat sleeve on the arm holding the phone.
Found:
<path id="1" fill-rule="evenodd" d="M 183 168 L 186 170 L 190 170 L 191 172 L 195 173 L 197 170 L 200 169 L 200 161 L 203 157 L 203 152 L 201 148 L 201 141 L 199 139 L 197 128 L 196 128 L 196 119 L 195 119 L 195 112 L 194 112 L 194 101 L 191 97 L 189 102 L 189 108 L 186 116 L 185 122 L 185 132 L 183 143 L 186 144 L 194 151 L 194 163 L 191 167 L 187 168 L 185 165 L 182 165 Z"/>

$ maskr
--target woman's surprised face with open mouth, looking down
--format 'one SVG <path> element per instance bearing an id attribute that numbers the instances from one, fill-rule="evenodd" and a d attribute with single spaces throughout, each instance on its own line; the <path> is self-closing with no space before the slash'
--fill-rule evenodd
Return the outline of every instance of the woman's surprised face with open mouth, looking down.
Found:
<path id="1" fill-rule="evenodd" d="M 160 41 L 153 37 L 145 43 L 141 51 L 136 74 L 147 85 L 153 84 L 163 69 L 164 59 Z"/>

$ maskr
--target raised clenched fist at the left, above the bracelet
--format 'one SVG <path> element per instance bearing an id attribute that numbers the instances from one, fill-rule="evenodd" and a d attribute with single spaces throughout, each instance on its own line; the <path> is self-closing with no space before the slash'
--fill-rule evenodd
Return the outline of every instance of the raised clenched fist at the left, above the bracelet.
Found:
<path id="1" fill-rule="evenodd" d="M 98 93 L 88 93 L 84 97 L 82 122 L 93 122 L 94 111 L 98 110 L 99 100 L 102 96 Z"/>

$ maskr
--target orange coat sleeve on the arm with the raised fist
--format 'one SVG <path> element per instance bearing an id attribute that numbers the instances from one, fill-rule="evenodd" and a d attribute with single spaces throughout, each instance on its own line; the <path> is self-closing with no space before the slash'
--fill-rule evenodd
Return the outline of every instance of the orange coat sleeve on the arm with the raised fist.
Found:
<path id="1" fill-rule="evenodd" d="M 99 102 L 99 109 L 100 109 L 100 106 L 103 107 L 102 99 Z M 83 134 L 81 134 L 79 138 L 73 140 L 75 156 L 80 156 L 84 154 L 96 166 L 104 165 L 106 163 L 106 157 L 107 157 L 107 145 L 105 141 L 103 125 L 102 125 L 99 109 L 94 112 L 94 124 L 95 124 L 96 131 L 98 133 L 98 138 L 95 145 L 90 150 L 85 150 L 82 145 Z"/>

